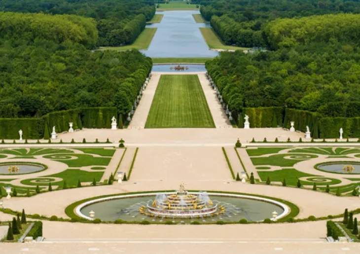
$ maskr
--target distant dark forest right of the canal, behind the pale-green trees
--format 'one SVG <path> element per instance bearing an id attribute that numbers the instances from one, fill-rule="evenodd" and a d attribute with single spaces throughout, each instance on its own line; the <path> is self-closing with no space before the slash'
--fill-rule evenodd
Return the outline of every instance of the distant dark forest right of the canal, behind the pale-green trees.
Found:
<path id="1" fill-rule="evenodd" d="M 201 14 L 226 44 L 270 46 L 264 29 L 277 18 L 360 13 L 359 0 L 202 0 Z"/>

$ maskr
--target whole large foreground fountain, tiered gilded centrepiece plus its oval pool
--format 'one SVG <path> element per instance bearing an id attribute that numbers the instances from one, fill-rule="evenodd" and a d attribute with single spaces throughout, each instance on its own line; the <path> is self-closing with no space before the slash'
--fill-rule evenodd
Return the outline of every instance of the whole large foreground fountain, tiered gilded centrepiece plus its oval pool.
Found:
<path id="1" fill-rule="evenodd" d="M 72 206 L 72 205 L 70 205 Z M 84 200 L 74 209 L 78 217 L 92 220 L 89 213 L 104 221 L 127 221 L 138 223 L 151 220 L 191 223 L 215 223 L 218 220 L 238 222 L 274 220 L 286 217 L 290 209 L 283 202 L 267 197 L 257 197 L 240 193 L 190 192 L 180 186 L 174 192 L 127 193 Z"/>

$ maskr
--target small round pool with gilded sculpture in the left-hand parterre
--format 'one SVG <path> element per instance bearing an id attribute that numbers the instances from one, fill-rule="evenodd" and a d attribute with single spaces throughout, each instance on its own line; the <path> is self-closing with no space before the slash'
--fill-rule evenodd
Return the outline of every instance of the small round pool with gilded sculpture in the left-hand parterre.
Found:
<path id="1" fill-rule="evenodd" d="M 23 175 L 45 170 L 47 167 L 33 162 L 4 162 L 0 163 L 0 175 Z"/>

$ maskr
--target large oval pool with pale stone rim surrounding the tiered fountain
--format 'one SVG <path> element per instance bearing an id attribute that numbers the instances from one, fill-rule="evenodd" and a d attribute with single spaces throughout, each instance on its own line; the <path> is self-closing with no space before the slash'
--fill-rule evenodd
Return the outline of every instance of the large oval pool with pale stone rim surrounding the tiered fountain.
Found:
<path id="1" fill-rule="evenodd" d="M 167 192 L 167 194 L 174 193 L 176 192 Z M 199 192 L 188 193 L 194 195 L 199 194 Z M 125 194 L 97 198 L 78 205 L 75 207 L 74 212 L 77 216 L 89 220 L 94 218 L 100 218 L 103 221 L 120 219 L 134 223 L 143 220 L 153 221 L 154 223 L 162 223 L 168 220 L 181 223 L 190 223 L 191 221 L 215 223 L 218 220 L 238 222 L 243 218 L 248 221 L 262 221 L 265 218 L 271 218 L 274 211 L 278 213 L 276 219 L 284 218 L 290 213 L 287 205 L 270 198 L 214 192 L 209 193 L 209 197 L 214 205 L 204 208 L 201 211 L 196 211 L 197 214 L 191 214 L 191 209 L 186 212 L 180 209 L 180 212 L 182 211 L 184 213 L 182 215 L 179 214 L 179 210 L 177 211 L 177 209 L 167 210 L 165 214 L 162 214 L 164 213 L 163 209 L 157 210 L 158 208 L 153 208 L 153 214 L 141 213 L 139 211 L 142 207 L 148 207 L 148 205 L 155 200 L 156 195 L 161 194 L 164 194 L 164 192 Z M 219 207 L 223 207 L 225 211 L 219 209 Z M 95 212 L 94 218 L 89 217 L 90 211 Z M 178 216 L 173 213 L 178 214 Z"/>

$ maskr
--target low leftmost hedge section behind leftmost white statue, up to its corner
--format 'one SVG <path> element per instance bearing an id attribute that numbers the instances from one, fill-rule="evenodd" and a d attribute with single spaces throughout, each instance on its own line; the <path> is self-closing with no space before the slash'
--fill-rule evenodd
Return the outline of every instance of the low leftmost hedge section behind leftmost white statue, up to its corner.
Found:
<path id="1" fill-rule="evenodd" d="M 0 139 L 19 139 L 19 130 L 23 139 L 39 139 L 43 135 L 41 118 L 0 118 Z"/>

